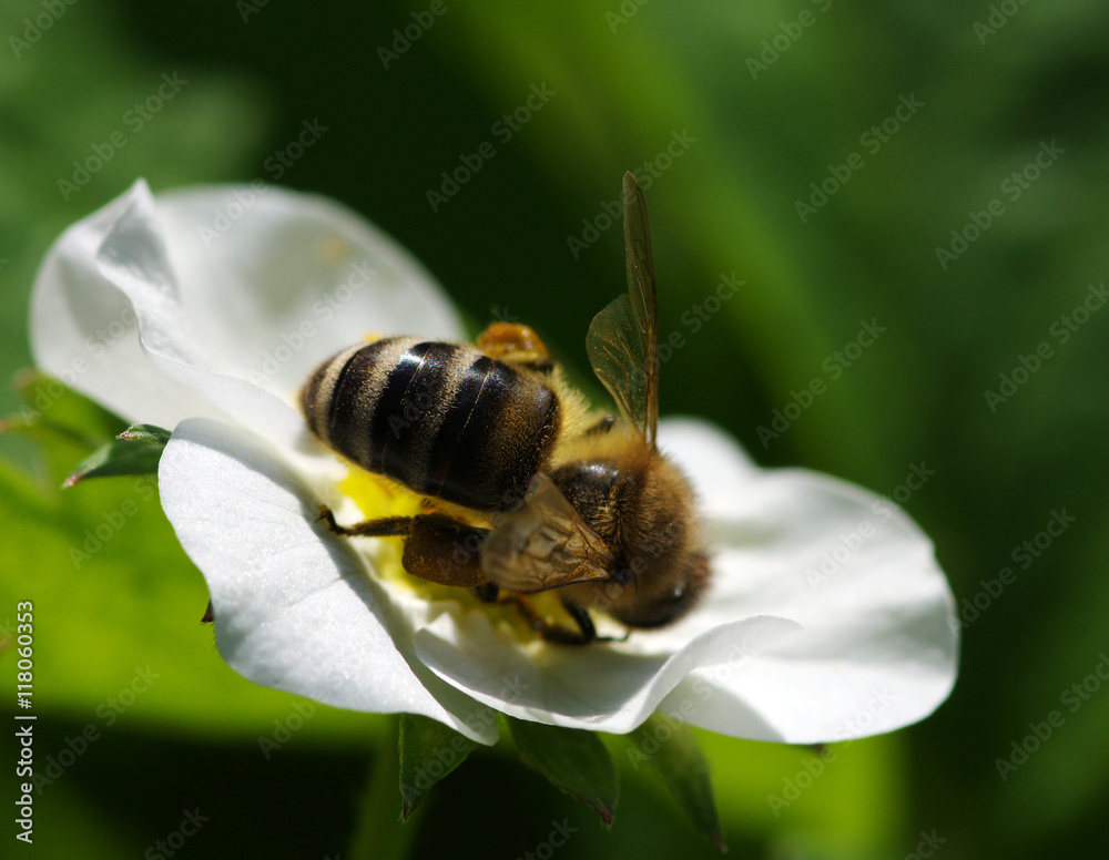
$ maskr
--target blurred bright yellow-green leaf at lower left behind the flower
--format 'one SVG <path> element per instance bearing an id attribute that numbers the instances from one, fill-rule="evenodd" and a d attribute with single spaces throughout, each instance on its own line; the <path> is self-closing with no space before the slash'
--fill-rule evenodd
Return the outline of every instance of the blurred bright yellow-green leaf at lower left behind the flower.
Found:
<path id="1" fill-rule="evenodd" d="M 87 453 L 62 437 L 44 446 L 50 464 Z M 34 642 L 37 677 L 50 679 L 35 687 L 37 714 L 99 730 L 236 738 L 261 760 L 287 755 L 286 747 L 366 745 L 384 729 L 383 717 L 303 703 L 224 663 L 200 623 L 204 579 L 177 543 L 152 478 L 62 491 L 63 477 L 51 469 L 51 480 L 39 481 L 0 460 L 0 570 L 26 572 L 0 576 L 0 638 L 14 631 L 23 601 L 51 631 Z M 113 697 L 147 667 L 159 678 L 125 714 L 113 710 Z M 304 728 L 291 733 L 291 720 Z"/>

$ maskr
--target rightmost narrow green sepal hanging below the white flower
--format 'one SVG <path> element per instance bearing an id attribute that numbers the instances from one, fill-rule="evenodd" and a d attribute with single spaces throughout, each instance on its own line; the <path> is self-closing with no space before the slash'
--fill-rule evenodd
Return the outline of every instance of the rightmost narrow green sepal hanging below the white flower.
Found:
<path id="1" fill-rule="evenodd" d="M 655 711 L 627 736 L 628 758 L 639 770 L 649 765 L 690 817 L 693 826 L 709 837 L 716 850 L 724 852 L 724 837 L 712 796 L 709 761 L 701 751 L 693 730 L 669 715 Z"/>

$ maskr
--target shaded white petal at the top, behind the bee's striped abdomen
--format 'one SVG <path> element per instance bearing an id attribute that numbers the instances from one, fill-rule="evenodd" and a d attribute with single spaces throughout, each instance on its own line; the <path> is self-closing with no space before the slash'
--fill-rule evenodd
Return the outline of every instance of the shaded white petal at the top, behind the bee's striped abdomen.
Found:
<path id="1" fill-rule="evenodd" d="M 204 320 L 220 369 L 287 397 L 367 334 L 462 337 L 441 288 L 389 236 L 334 201 L 263 188 L 157 196 L 169 256 L 189 289 L 183 304 Z"/>

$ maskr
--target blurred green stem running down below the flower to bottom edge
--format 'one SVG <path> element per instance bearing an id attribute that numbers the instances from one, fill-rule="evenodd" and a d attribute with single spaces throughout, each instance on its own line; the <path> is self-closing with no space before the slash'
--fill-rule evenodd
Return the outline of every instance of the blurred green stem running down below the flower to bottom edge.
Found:
<path id="1" fill-rule="evenodd" d="M 358 823 L 350 840 L 354 860 L 405 860 L 416 835 L 415 822 L 400 820 L 399 717 L 381 733 L 362 795 Z"/>

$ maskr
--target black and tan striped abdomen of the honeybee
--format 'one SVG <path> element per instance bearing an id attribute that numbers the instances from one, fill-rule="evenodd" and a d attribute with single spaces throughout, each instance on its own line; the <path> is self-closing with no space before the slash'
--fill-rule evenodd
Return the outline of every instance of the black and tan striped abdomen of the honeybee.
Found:
<path id="1" fill-rule="evenodd" d="M 543 468 L 561 411 L 533 376 L 472 347 L 385 338 L 321 365 L 308 427 L 362 468 L 480 511 L 510 508 Z"/>

